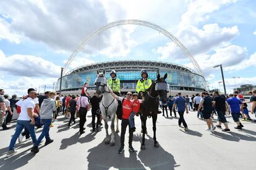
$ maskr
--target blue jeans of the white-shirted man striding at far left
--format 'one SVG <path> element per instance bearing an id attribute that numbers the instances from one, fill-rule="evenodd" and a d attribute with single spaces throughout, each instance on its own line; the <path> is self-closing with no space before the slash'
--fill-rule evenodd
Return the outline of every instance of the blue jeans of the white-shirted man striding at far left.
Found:
<path id="1" fill-rule="evenodd" d="M 24 127 L 28 129 L 30 136 L 32 138 L 33 144 L 36 143 L 35 125 L 30 124 L 30 121 L 17 120 L 16 130 L 15 130 L 14 136 L 12 136 L 12 139 L 9 145 L 9 150 L 14 150 L 16 140 L 20 136 L 20 133 L 22 132 Z"/>

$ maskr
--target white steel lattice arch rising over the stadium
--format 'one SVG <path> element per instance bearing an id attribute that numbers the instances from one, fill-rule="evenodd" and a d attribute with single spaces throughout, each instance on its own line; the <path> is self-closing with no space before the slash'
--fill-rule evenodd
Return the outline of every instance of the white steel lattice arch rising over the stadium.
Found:
<path id="1" fill-rule="evenodd" d="M 64 75 L 66 75 L 67 69 L 69 68 L 69 65 L 72 62 L 72 60 L 74 60 L 75 56 L 83 49 L 85 44 L 87 44 L 87 42 L 90 41 L 90 39 L 94 38 L 95 36 L 98 36 L 98 34 L 102 33 L 105 30 L 108 30 L 109 28 L 113 28 L 113 27 L 119 26 L 119 25 L 142 25 L 142 26 L 147 26 L 148 28 L 152 28 L 152 29 L 164 34 L 164 36 L 166 36 L 171 41 L 173 41 L 182 51 L 185 52 L 185 54 L 187 55 L 189 60 L 193 63 L 197 73 L 203 76 L 203 72 L 202 72 L 201 68 L 199 67 L 198 63 L 195 61 L 193 55 L 189 52 L 189 50 L 186 48 L 186 46 L 184 46 L 184 44 L 182 44 L 182 42 L 179 41 L 179 39 L 177 39 L 173 34 L 169 33 L 169 31 L 165 30 L 161 26 L 158 26 L 155 23 L 146 22 L 143 20 L 118 20 L 116 22 L 111 22 L 108 25 L 105 25 L 98 30 L 93 31 L 90 35 L 88 35 L 85 39 L 83 39 L 83 41 L 79 44 L 79 46 L 70 55 L 69 60 L 67 60 L 65 66 L 64 66 L 64 70 L 63 70 Z M 205 85 L 208 88 L 206 81 L 205 81 Z"/>

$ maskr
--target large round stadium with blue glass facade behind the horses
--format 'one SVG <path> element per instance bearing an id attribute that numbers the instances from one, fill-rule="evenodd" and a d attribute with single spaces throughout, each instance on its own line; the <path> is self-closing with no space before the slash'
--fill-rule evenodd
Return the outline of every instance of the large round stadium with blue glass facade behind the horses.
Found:
<path id="1" fill-rule="evenodd" d="M 75 68 L 62 76 L 61 94 L 80 94 L 85 82 L 89 83 L 89 92 L 94 92 L 94 82 L 97 70 L 106 71 L 106 78 L 109 78 L 111 70 L 116 70 L 117 77 L 121 81 L 121 93 L 127 91 L 135 92 L 137 81 L 141 78 L 140 70 L 148 71 L 148 78 L 154 80 L 158 73 L 163 76 L 168 73 L 166 82 L 169 84 L 171 95 L 195 94 L 202 92 L 205 87 L 205 78 L 194 70 L 174 63 L 145 61 L 145 60 L 122 60 L 113 62 L 93 63 Z M 60 78 L 56 88 L 59 89 Z"/>

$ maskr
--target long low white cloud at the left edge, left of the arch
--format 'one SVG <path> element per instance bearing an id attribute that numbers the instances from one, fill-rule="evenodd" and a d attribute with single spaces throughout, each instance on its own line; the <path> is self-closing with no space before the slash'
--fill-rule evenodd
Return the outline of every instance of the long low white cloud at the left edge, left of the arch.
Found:
<path id="1" fill-rule="evenodd" d="M 6 57 L 0 50 L 1 71 L 10 75 L 57 78 L 60 75 L 60 67 L 41 57 L 33 55 L 15 54 Z"/>

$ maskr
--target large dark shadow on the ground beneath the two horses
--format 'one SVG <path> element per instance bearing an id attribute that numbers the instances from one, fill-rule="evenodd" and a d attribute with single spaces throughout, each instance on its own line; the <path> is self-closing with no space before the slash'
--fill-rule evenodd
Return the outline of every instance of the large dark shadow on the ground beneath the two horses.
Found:
<path id="1" fill-rule="evenodd" d="M 145 167 L 149 167 L 151 169 L 171 170 L 179 166 L 176 165 L 173 155 L 166 152 L 161 146 L 159 148 L 153 147 L 153 139 L 150 136 L 148 136 L 149 139 L 145 139 L 148 144 L 146 150 L 137 150 L 131 153 L 125 147 L 125 153 L 129 152 L 129 157 L 125 157 L 124 153 L 118 154 L 120 137 L 117 137 L 117 134 L 115 136 L 116 145 L 114 147 L 105 145 L 103 141 L 98 146 L 88 150 L 90 152 L 87 156 L 88 168 L 85 169 L 109 169 L 111 167 L 117 169 L 145 169 Z M 141 135 L 134 136 L 134 141 L 140 141 L 141 138 Z M 127 137 L 125 144 L 127 145 Z M 104 152 L 102 152 L 103 150 Z"/>

